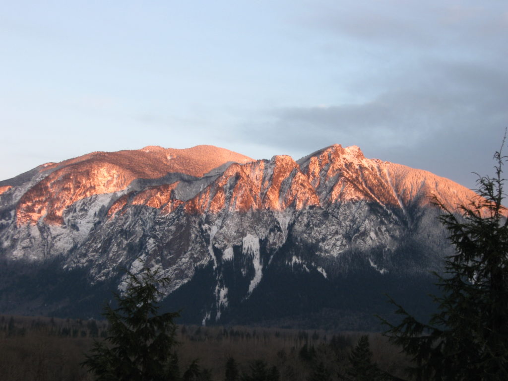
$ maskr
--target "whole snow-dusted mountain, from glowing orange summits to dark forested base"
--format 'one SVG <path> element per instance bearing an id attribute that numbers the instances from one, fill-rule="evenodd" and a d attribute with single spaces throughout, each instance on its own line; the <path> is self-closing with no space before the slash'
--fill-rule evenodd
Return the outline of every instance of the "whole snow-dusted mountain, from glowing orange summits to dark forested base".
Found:
<path id="1" fill-rule="evenodd" d="M 453 209 L 475 195 L 356 146 L 48 163 L 0 182 L 0 311 L 96 315 L 125 268 L 148 266 L 171 277 L 163 303 L 184 322 L 369 329 L 384 292 L 414 301 L 453 252 L 432 196 Z"/>

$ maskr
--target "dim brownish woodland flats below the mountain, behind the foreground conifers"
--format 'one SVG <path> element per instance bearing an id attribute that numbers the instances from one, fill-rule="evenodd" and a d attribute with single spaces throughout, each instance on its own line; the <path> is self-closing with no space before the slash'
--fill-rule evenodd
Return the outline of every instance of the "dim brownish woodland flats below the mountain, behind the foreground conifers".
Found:
<path id="1" fill-rule="evenodd" d="M 80 363 L 94 340 L 107 336 L 107 329 L 106 321 L 0 316 L 0 379 L 92 380 Z M 344 379 L 360 337 L 322 330 L 218 326 L 178 326 L 176 335 L 182 373 L 195 362 L 196 377 L 190 379 L 203 381 Z M 380 334 L 369 339 L 371 362 L 403 375 L 407 363 L 398 348 Z"/>

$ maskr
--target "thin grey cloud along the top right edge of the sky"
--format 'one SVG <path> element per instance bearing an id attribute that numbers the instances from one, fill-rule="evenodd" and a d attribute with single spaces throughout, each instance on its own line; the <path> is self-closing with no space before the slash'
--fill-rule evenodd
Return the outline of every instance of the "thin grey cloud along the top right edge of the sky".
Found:
<path id="1" fill-rule="evenodd" d="M 507 7 L 502 2 L 482 6 L 476 1 L 328 2 L 306 17 L 312 28 L 358 41 L 425 47 L 494 42 L 502 47 Z M 504 33 L 503 33 L 504 32 Z M 483 46 L 478 46 L 483 48 Z"/>

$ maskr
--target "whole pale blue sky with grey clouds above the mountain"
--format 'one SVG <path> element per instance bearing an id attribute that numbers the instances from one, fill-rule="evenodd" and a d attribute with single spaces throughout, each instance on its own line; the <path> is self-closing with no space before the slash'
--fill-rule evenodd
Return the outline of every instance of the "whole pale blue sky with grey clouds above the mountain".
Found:
<path id="1" fill-rule="evenodd" d="M 0 180 L 92 151 L 337 143 L 474 188 L 508 127 L 505 0 L 0 3 Z"/>

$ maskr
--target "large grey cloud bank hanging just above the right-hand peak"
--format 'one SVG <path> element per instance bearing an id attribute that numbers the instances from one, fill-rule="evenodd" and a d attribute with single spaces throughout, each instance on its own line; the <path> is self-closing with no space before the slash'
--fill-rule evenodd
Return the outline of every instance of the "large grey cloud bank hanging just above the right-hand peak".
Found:
<path id="1" fill-rule="evenodd" d="M 491 173 L 492 154 L 508 126 L 508 70 L 453 61 L 427 62 L 421 69 L 361 104 L 270 110 L 244 134 L 276 152 L 356 144 L 368 157 L 473 187 L 469 172 Z M 261 133 L 251 135 L 252 129 Z"/>

